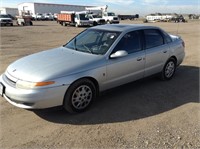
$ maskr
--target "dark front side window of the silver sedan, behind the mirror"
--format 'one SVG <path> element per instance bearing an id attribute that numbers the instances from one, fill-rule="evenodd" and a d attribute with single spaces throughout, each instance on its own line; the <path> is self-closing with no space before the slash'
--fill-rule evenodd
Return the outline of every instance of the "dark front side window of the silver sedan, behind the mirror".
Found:
<path id="1" fill-rule="evenodd" d="M 128 53 L 134 53 L 142 50 L 141 40 L 140 40 L 140 32 L 133 31 L 129 32 L 116 45 L 114 52 L 118 50 L 125 50 Z"/>

